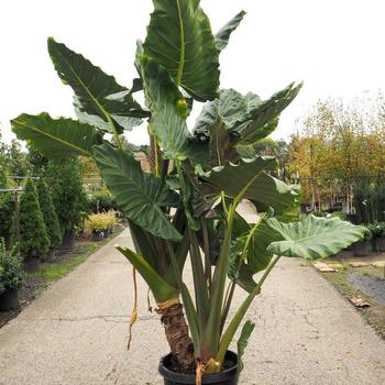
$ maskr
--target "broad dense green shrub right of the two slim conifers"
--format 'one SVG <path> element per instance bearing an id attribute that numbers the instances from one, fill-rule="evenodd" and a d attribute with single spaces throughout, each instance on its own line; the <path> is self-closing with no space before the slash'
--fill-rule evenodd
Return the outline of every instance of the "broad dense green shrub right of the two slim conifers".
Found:
<path id="1" fill-rule="evenodd" d="M 47 175 L 62 232 L 72 231 L 82 223 L 88 211 L 79 165 L 74 158 L 52 160 Z"/>

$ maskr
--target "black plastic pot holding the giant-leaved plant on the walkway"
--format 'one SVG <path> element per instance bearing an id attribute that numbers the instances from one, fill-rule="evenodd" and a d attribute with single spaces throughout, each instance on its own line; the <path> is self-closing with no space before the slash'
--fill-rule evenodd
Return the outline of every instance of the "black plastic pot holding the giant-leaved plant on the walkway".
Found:
<path id="1" fill-rule="evenodd" d="M 237 354 L 231 351 L 228 351 L 226 358 L 230 362 L 233 362 L 233 366 L 220 373 L 204 375 L 202 385 L 238 385 Z M 195 374 L 183 374 L 170 371 L 168 369 L 170 361 L 172 354 L 169 353 L 166 356 L 164 356 L 160 363 L 160 373 L 164 378 L 164 385 L 195 385 Z"/>

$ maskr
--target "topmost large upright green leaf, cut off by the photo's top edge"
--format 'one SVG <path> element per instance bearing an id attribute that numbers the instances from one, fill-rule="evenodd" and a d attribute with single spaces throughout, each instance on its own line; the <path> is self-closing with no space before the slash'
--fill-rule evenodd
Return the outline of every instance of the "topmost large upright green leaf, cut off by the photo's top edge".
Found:
<path id="1" fill-rule="evenodd" d="M 144 54 L 165 67 L 196 100 L 212 100 L 219 62 L 210 21 L 199 0 L 153 0 Z"/>

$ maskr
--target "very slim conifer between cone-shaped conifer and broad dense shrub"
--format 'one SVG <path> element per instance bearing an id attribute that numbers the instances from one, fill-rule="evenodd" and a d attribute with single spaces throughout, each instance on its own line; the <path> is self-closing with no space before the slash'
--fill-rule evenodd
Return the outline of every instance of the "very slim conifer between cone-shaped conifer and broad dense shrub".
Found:
<path id="1" fill-rule="evenodd" d="M 43 212 L 44 223 L 50 237 L 51 248 L 59 246 L 62 244 L 62 230 L 51 193 L 43 178 L 37 180 L 36 191 L 38 205 Z"/>

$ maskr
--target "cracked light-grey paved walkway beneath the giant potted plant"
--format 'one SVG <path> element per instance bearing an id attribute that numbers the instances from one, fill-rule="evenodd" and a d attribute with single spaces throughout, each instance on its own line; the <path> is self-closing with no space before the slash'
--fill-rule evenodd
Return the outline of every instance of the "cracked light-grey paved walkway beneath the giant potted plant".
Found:
<path id="1" fill-rule="evenodd" d="M 125 350 L 131 268 L 113 244 L 53 284 L 0 329 L 1 385 L 161 385 L 167 345 L 146 310 Z M 243 293 L 237 300 L 242 299 Z M 385 343 L 312 268 L 283 260 L 250 311 L 256 321 L 242 385 L 385 384 Z"/>

